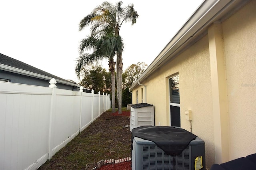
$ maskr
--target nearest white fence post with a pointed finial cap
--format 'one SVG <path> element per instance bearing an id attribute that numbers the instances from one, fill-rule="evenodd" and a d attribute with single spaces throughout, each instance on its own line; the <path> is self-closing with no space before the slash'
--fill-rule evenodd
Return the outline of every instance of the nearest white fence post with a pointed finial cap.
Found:
<path id="1" fill-rule="evenodd" d="M 51 106 L 50 106 L 50 118 L 49 118 L 49 136 L 48 136 L 48 160 L 52 158 L 52 148 L 51 148 L 51 136 L 52 136 L 52 115 L 54 111 L 54 105 L 56 100 L 56 80 L 52 78 L 50 80 L 49 87 L 52 88 Z"/>

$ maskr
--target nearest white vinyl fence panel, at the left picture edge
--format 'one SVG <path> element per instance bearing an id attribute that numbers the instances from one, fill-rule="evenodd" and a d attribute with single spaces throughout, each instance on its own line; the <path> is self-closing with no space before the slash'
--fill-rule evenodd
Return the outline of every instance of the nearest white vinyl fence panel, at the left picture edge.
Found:
<path id="1" fill-rule="evenodd" d="M 26 169 L 47 154 L 51 89 L 38 87 L 38 95 L 28 85 L 1 83 L 0 88 L 0 169 Z"/>

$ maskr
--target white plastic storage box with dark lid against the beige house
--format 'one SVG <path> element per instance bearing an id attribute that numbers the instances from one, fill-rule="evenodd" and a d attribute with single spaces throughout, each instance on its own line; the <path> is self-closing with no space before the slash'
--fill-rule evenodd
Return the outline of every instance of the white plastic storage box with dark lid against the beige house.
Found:
<path id="1" fill-rule="evenodd" d="M 131 105 L 130 131 L 141 126 L 154 126 L 154 106 L 148 103 Z"/>

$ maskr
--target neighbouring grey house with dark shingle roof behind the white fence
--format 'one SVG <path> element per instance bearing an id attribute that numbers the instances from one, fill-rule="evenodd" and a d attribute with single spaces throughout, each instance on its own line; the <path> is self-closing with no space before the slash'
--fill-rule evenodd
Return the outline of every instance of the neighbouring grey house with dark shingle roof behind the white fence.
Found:
<path id="1" fill-rule="evenodd" d="M 74 81 L 65 80 L 0 53 L 0 81 L 48 87 L 54 78 L 57 88 L 79 91 Z"/>

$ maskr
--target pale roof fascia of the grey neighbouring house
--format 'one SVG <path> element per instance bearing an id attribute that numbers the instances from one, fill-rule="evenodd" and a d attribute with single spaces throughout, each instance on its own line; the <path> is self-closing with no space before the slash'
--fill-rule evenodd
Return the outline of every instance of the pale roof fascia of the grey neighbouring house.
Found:
<path id="1" fill-rule="evenodd" d="M 30 76 L 30 77 L 35 77 L 35 78 L 38 78 L 38 79 L 43 79 L 43 80 L 48 80 L 48 81 L 50 81 L 52 79 L 52 77 L 48 77 L 48 76 L 45 76 L 45 75 L 33 73 L 33 72 L 22 70 L 22 69 L 18 69 L 18 68 L 15 68 L 15 67 L 11 67 L 9 65 L 1 64 L 1 63 L 0 63 L 0 70 L 12 72 L 12 73 L 17 73 L 17 74 L 20 74 L 20 75 L 26 75 L 26 76 Z M 63 80 L 59 80 L 59 79 L 55 79 L 55 80 L 57 81 L 57 83 L 80 87 L 80 85 L 76 85 L 74 83 L 69 83 L 69 82 L 66 82 L 66 81 L 63 81 Z"/>

